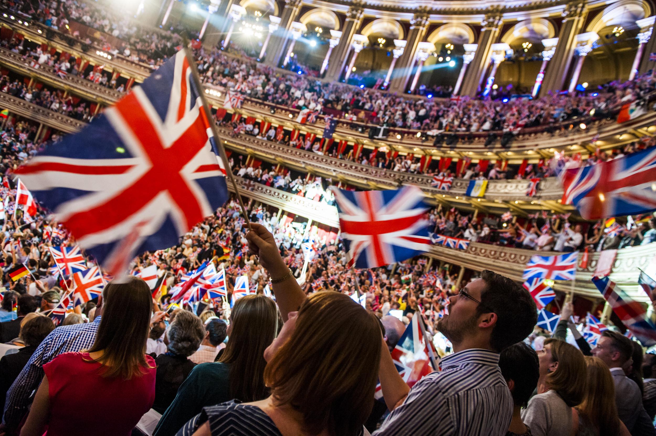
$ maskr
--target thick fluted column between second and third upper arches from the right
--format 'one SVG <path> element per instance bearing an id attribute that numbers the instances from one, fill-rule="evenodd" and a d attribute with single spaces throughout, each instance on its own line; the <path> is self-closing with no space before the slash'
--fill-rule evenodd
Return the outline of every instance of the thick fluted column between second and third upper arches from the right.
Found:
<path id="1" fill-rule="evenodd" d="M 476 97 L 478 88 L 483 81 L 487 65 L 489 65 L 492 56 L 492 45 L 499 37 L 499 29 L 501 29 L 501 13 L 493 12 L 485 15 L 481 25 L 480 36 L 478 37 L 478 47 L 474 59 L 467 67 L 467 73 L 464 75 L 462 81 L 461 96 Z"/>

